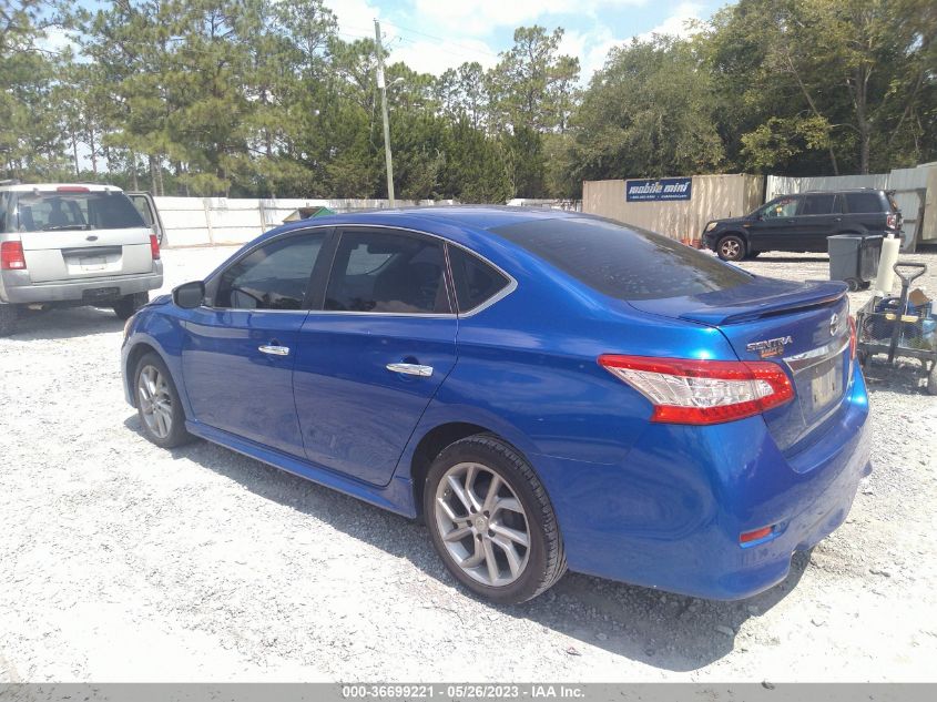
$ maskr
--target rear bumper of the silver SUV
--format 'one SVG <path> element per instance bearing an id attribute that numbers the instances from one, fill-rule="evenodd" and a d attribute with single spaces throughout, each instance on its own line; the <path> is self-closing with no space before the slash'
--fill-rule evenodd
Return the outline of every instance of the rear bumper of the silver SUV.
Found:
<path id="1" fill-rule="evenodd" d="M 144 293 L 163 285 L 163 266 L 156 262 L 151 273 L 141 275 L 121 275 L 102 278 L 82 278 L 80 281 L 54 281 L 32 283 L 26 271 L 3 271 L 0 297 L 11 304 L 29 303 L 86 303 L 108 302 Z M 95 293 L 99 293 L 95 295 Z"/>

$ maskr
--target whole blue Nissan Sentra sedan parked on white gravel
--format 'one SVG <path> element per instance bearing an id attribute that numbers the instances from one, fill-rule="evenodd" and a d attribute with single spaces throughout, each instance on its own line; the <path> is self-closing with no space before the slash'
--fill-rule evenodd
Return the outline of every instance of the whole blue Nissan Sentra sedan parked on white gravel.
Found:
<path id="1" fill-rule="evenodd" d="M 144 435 L 407 517 L 520 602 L 567 569 L 713 599 L 783 580 L 870 471 L 845 285 L 513 207 L 282 226 L 128 322 Z"/>

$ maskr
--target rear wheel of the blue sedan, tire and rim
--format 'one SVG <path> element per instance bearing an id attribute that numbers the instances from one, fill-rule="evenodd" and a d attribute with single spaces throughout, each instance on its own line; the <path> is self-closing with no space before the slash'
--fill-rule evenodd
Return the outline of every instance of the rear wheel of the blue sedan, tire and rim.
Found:
<path id="1" fill-rule="evenodd" d="M 424 515 L 446 568 L 501 603 L 530 600 L 566 572 L 553 508 L 510 445 L 488 435 L 446 448 L 429 469 Z"/>

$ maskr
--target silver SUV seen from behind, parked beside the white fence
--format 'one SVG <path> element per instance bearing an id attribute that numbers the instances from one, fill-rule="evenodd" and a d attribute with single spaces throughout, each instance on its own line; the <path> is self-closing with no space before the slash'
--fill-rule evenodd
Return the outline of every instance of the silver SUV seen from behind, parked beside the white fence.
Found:
<path id="1" fill-rule="evenodd" d="M 113 185 L 0 184 L 0 335 L 22 307 L 129 318 L 163 284 L 160 244 Z"/>

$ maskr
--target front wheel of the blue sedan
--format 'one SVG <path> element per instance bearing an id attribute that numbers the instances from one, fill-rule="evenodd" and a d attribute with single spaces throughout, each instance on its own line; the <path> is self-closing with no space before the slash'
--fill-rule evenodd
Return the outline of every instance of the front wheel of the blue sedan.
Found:
<path id="1" fill-rule="evenodd" d="M 185 430 L 185 413 L 166 364 L 156 354 L 145 354 L 133 374 L 136 411 L 143 435 L 156 446 L 173 448 L 192 435 Z"/>

